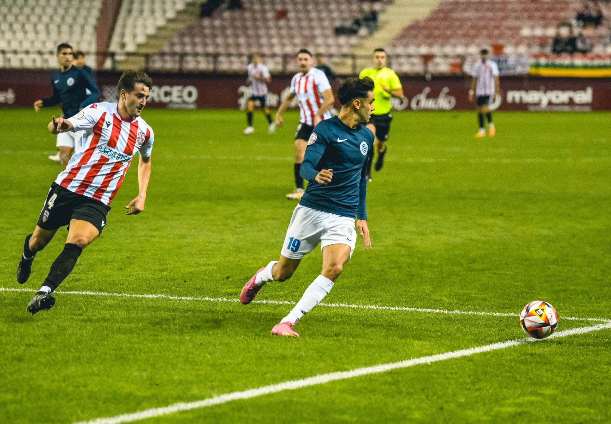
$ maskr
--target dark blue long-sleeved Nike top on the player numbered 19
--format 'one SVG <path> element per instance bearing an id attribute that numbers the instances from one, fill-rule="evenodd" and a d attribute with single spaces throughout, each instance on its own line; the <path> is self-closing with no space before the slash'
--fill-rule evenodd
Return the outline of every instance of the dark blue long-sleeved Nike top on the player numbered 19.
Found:
<path id="1" fill-rule="evenodd" d="M 341 216 L 367 219 L 367 161 L 373 154 L 373 133 L 367 126 L 345 125 L 337 116 L 315 126 L 305 149 L 299 174 L 308 180 L 299 204 Z M 323 169 L 332 169 L 331 183 L 314 178 Z"/>

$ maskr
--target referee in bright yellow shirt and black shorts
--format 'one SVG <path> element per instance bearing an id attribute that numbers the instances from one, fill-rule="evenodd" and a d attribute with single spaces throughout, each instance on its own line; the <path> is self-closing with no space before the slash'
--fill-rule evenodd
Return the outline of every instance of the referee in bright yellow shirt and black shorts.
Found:
<path id="1" fill-rule="evenodd" d="M 376 109 L 371 114 L 371 118 L 367 123 L 367 128 L 373 131 L 375 135 L 376 150 L 378 150 L 378 160 L 376 161 L 375 170 L 379 171 L 384 165 L 384 155 L 386 155 L 386 141 L 388 139 L 388 132 L 390 131 L 390 121 L 392 121 L 392 115 L 390 114 L 391 97 L 403 98 L 403 87 L 399 77 L 390 68 L 386 67 L 386 50 L 377 48 L 373 51 L 373 68 L 365 68 L 360 71 L 359 78 L 368 76 L 373 79 L 376 86 L 373 89 L 373 95 L 375 96 Z M 367 170 L 367 178 L 371 181 L 371 162 L 369 163 L 369 169 Z"/>

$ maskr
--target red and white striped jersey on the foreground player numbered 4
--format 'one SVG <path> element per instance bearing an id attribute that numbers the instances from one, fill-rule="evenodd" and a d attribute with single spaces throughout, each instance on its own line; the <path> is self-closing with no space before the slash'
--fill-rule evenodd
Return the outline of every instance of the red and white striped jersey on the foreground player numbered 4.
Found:
<path id="1" fill-rule="evenodd" d="M 137 117 L 122 120 L 117 103 L 93 103 L 68 121 L 74 131 L 84 131 L 75 154 L 55 182 L 60 186 L 109 205 L 136 150 L 145 158 L 153 149 L 153 130 Z"/>

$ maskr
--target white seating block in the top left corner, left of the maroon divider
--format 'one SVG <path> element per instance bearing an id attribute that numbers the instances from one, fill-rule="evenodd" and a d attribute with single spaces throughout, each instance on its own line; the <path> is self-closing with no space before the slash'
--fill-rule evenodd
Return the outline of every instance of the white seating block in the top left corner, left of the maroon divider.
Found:
<path id="1" fill-rule="evenodd" d="M 0 67 L 54 68 L 59 43 L 95 51 L 102 1 L 0 0 L 0 50 L 7 52 L 0 54 Z M 88 59 L 95 64 L 93 57 Z"/>

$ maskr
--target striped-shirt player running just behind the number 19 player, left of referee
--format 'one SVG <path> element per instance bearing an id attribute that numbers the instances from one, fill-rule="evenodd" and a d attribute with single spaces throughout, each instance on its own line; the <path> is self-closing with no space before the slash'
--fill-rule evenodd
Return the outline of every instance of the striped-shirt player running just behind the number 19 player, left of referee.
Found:
<path id="1" fill-rule="evenodd" d="M 299 125 L 295 133 L 295 190 L 287 194 L 287 199 L 299 200 L 304 195 L 304 179 L 299 175 L 304 161 L 307 139 L 320 120 L 331 118 L 329 109 L 333 107 L 334 97 L 329 79 L 324 72 L 314 68 L 312 53 L 306 49 L 299 50 L 297 62 L 301 70 L 291 80 L 290 93 L 280 104 L 276 112 L 276 125 L 284 125 L 282 114 L 291 105 L 295 97 L 299 101 Z"/>

